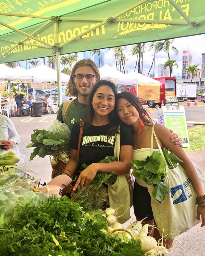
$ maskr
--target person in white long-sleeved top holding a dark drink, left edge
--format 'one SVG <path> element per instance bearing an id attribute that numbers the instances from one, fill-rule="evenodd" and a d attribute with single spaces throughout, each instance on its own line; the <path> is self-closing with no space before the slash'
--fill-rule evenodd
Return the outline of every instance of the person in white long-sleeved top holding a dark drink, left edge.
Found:
<path id="1" fill-rule="evenodd" d="M 0 149 L 0 154 L 6 153 L 8 150 L 13 150 L 20 157 L 18 165 L 23 163 L 24 156 L 20 154 L 18 144 L 20 137 L 10 118 L 0 115 L 0 142 L 4 144 L 4 149 Z"/>

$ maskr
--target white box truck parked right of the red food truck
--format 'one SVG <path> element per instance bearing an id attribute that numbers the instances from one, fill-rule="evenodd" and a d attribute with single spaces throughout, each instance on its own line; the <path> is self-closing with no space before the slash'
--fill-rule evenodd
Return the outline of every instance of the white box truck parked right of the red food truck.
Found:
<path id="1" fill-rule="evenodd" d="M 190 101 L 194 101 L 196 96 L 196 87 L 197 84 L 184 84 L 184 83 L 177 83 L 176 84 L 176 97 L 187 97 Z"/>

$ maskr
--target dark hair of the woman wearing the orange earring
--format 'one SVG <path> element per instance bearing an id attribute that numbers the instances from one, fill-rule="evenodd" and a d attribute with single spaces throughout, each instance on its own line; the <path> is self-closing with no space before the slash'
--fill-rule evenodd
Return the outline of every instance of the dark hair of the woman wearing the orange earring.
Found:
<path id="1" fill-rule="evenodd" d="M 143 109 L 142 103 L 139 101 L 139 99 L 130 92 L 121 92 L 117 95 L 117 100 L 120 98 L 126 99 L 128 102 L 130 102 L 135 109 L 139 113 L 139 118 L 143 121 L 144 125 L 147 125 L 149 123 L 153 123 L 152 118 L 149 116 L 149 112 L 146 109 Z"/>

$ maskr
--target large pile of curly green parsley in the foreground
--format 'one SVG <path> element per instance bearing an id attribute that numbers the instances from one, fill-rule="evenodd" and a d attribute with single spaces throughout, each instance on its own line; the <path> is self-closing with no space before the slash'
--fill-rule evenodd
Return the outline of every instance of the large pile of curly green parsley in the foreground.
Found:
<path id="1" fill-rule="evenodd" d="M 103 233 L 107 224 L 99 212 L 85 213 L 65 196 L 17 210 L 0 227 L 0 255 L 144 256 L 139 241 L 121 243 L 117 236 Z"/>

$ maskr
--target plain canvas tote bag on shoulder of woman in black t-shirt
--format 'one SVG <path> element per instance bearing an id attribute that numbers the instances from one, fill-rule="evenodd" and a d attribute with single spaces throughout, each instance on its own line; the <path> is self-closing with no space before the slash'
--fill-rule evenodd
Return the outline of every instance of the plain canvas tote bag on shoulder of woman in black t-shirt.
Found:
<path id="1" fill-rule="evenodd" d="M 120 153 L 120 134 L 116 134 L 115 141 L 115 156 L 119 160 Z M 108 199 L 110 207 L 117 209 L 119 223 L 125 223 L 130 219 L 130 208 L 132 207 L 133 187 L 130 173 L 118 175 L 116 182 L 110 186 L 108 185 Z"/>

